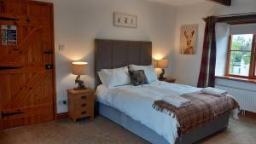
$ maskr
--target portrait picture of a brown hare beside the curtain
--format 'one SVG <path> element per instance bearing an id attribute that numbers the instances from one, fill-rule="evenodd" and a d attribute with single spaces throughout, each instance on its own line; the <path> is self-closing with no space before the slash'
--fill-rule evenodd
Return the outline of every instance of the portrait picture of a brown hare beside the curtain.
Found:
<path id="1" fill-rule="evenodd" d="M 180 54 L 195 55 L 198 25 L 184 25 L 180 29 Z"/>

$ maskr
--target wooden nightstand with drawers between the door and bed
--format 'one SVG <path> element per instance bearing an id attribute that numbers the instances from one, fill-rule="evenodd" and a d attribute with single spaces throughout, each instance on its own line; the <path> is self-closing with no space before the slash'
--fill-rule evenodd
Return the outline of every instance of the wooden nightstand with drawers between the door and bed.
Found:
<path id="1" fill-rule="evenodd" d="M 79 118 L 94 118 L 94 89 L 67 89 L 68 115 L 76 122 Z"/>

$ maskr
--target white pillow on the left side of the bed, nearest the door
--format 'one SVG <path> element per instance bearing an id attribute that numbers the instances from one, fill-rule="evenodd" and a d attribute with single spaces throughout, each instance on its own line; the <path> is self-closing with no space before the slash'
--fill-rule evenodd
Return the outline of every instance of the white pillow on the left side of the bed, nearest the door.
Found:
<path id="1" fill-rule="evenodd" d="M 114 69 L 102 69 L 98 72 L 98 75 L 102 84 L 108 88 L 131 84 L 131 78 L 127 66 Z"/>

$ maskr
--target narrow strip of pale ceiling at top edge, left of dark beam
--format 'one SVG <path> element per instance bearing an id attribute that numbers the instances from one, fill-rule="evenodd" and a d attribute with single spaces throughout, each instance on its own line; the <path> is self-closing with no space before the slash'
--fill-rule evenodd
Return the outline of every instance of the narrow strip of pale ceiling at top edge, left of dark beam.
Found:
<path id="1" fill-rule="evenodd" d="M 165 3 L 169 5 L 174 5 L 174 6 L 206 2 L 206 0 L 148 0 L 148 1 L 155 2 L 155 3 Z"/>

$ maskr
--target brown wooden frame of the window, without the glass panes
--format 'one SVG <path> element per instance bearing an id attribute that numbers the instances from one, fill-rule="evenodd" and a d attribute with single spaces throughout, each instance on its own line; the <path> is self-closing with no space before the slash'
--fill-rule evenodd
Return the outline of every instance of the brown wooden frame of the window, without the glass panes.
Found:
<path id="1" fill-rule="evenodd" d="M 231 54 L 231 44 L 232 44 L 232 35 L 229 36 L 229 44 L 227 51 L 227 60 L 226 60 L 226 69 L 225 76 L 235 77 L 235 78 L 249 78 L 256 79 L 256 34 L 253 34 L 252 50 L 251 50 L 251 61 L 249 67 L 248 76 L 241 76 L 236 74 L 230 74 L 230 54 Z"/>

